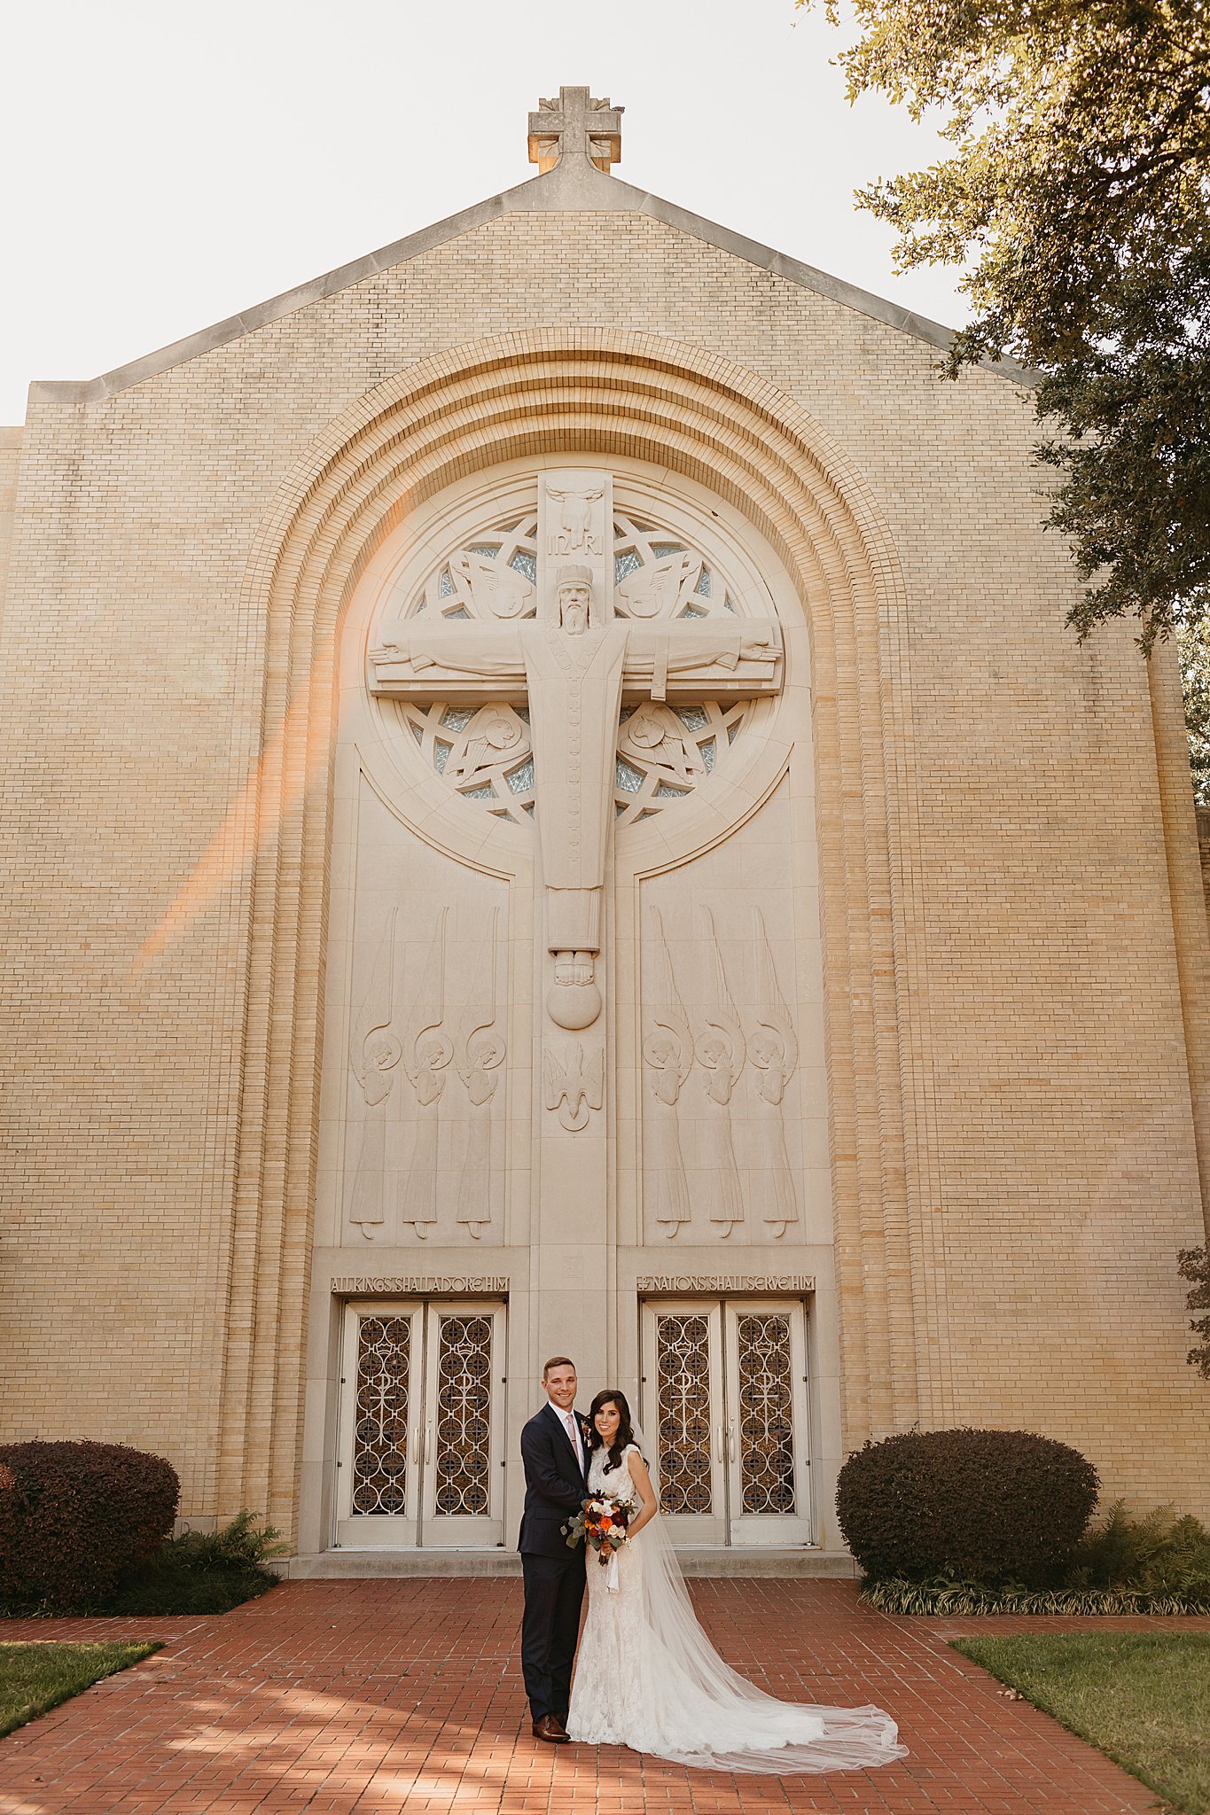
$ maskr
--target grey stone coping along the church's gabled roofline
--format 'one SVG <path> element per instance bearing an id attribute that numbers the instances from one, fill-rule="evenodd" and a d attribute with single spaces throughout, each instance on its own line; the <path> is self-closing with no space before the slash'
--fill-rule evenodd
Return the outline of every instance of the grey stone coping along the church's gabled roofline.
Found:
<path id="1" fill-rule="evenodd" d="M 610 214 L 646 214 L 651 220 L 662 221 L 666 227 L 675 227 L 695 240 L 702 240 L 706 245 L 713 245 L 722 252 L 731 252 L 735 258 L 742 258 L 746 263 L 756 265 L 760 270 L 767 270 L 775 278 L 786 278 L 789 283 L 800 283 L 804 289 L 815 290 L 818 296 L 825 296 L 831 301 L 844 303 L 845 309 L 869 316 L 873 321 L 882 321 L 887 327 L 896 329 L 900 334 L 911 334 L 914 339 L 925 341 L 929 347 L 949 350 L 952 341 L 954 330 L 943 327 L 940 321 L 929 321 L 927 316 L 918 316 L 912 309 L 900 309 L 896 303 L 889 303 L 885 298 L 874 296 L 871 290 L 862 290 L 854 283 L 845 283 L 842 278 L 833 278 L 825 270 L 816 270 L 815 265 L 804 265 L 796 258 L 787 258 L 786 252 L 776 252 L 773 247 L 760 245 L 758 240 L 747 240 L 744 234 L 733 232 L 729 227 L 720 227 L 717 221 L 709 221 L 702 214 L 691 214 L 688 209 L 680 209 L 673 201 L 664 201 L 662 196 L 648 194 L 644 189 L 635 189 L 631 183 L 624 183 L 617 176 L 606 176 L 604 171 L 597 171 L 584 158 L 564 156 L 553 171 L 532 176 L 528 182 L 517 183 L 515 189 L 504 189 L 499 196 L 492 196 L 488 201 L 477 201 L 470 209 L 448 214 L 446 220 L 435 221 L 432 227 L 423 227 L 419 232 L 408 234 L 405 240 L 395 240 L 390 245 L 379 247 L 376 252 L 366 252 L 365 258 L 356 258 L 348 265 L 337 265 L 336 270 L 327 270 L 321 278 L 312 278 L 308 283 L 299 283 L 292 290 L 283 290 L 281 296 L 270 296 L 265 303 L 243 309 L 238 316 L 229 316 L 225 321 L 216 321 L 209 329 L 187 334 L 185 339 L 172 341 L 169 347 L 160 347 L 154 352 L 143 354 L 140 359 L 131 359 L 129 365 L 114 367 L 112 372 L 103 372 L 100 378 L 62 381 L 34 379 L 29 387 L 29 401 L 102 403 L 105 397 L 112 397 L 120 390 L 129 390 L 132 385 L 141 385 L 143 379 L 156 378 L 160 372 L 167 372 L 174 365 L 183 365 L 187 359 L 196 359 L 203 352 L 225 347 L 230 341 L 239 339 L 243 334 L 268 327 L 270 321 L 281 321 L 283 316 L 294 314 L 296 309 L 305 309 L 308 303 L 321 301 L 325 296 L 346 290 L 350 285 L 361 283 L 365 278 L 372 278 L 381 270 L 390 270 L 392 265 L 403 265 L 410 258 L 417 258 L 421 252 L 428 252 L 434 247 L 446 245 L 450 240 L 473 232 L 475 227 L 484 227 L 488 221 L 499 220 L 504 214 L 544 214 L 566 212 L 570 209 Z M 1003 378 L 1010 378 L 1018 385 L 1034 383 L 1032 374 L 1010 359 L 985 363 L 989 370 L 1000 372 Z"/>

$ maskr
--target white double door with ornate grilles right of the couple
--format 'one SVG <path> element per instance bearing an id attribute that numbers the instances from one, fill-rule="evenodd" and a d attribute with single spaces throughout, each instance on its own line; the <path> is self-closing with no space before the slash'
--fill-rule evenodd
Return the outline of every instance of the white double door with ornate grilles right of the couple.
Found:
<path id="1" fill-rule="evenodd" d="M 677 1545 L 809 1545 L 800 1300 L 642 1309 L 644 1434 Z"/>

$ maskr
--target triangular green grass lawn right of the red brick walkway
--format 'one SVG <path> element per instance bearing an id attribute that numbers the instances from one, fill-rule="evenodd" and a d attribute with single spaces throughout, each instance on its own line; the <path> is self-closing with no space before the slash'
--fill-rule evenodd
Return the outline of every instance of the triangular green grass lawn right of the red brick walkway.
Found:
<path id="1" fill-rule="evenodd" d="M 1186 1815 L 1210 1815 L 1210 1632 L 954 1639 Z"/>

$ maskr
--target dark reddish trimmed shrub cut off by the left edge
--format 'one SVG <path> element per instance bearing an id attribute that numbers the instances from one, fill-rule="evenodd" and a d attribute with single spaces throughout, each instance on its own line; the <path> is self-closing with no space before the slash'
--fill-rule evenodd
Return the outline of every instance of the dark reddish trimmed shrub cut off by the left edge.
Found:
<path id="1" fill-rule="evenodd" d="M 171 1463 L 123 1443 L 0 1445 L 0 1603 L 89 1608 L 172 1528 Z"/>

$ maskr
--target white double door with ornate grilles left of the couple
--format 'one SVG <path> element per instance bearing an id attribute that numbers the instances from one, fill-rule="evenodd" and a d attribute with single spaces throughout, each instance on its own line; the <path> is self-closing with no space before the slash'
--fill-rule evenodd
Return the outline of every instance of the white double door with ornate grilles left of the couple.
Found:
<path id="1" fill-rule="evenodd" d="M 503 1543 L 504 1307 L 352 1303 L 341 1354 L 336 1543 Z"/>

